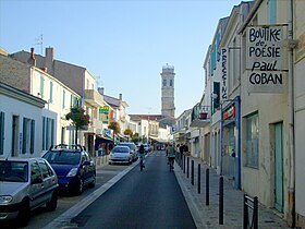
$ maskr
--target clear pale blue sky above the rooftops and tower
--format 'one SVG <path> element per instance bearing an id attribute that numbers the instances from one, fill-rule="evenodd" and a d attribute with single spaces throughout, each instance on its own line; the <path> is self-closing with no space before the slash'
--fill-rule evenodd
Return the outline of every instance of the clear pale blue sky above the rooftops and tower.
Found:
<path id="1" fill-rule="evenodd" d="M 161 113 L 162 65 L 175 69 L 175 117 L 204 91 L 218 21 L 240 0 L 0 0 L 0 47 L 85 67 L 129 113 Z M 37 39 L 42 35 L 42 52 Z"/>

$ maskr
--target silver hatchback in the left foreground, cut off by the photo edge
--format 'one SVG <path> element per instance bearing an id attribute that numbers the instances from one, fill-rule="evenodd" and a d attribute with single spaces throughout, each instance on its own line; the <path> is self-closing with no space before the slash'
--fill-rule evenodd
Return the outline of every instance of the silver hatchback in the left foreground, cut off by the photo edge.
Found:
<path id="1" fill-rule="evenodd" d="M 57 174 L 47 160 L 0 159 L 0 220 L 17 218 L 17 224 L 25 227 L 33 209 L 46 205 L 54 210 L 57 188 Z"/>

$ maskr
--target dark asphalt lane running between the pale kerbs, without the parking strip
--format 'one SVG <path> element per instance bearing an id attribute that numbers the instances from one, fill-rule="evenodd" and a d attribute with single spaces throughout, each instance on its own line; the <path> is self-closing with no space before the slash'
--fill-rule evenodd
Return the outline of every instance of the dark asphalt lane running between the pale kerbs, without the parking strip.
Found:
<path id="1" fill-rule="evenodd" d="M 146 157 L 65 228 L 196 228 L 164 153 Z M 64 227 L 63 227 L 64 228 Z"/>

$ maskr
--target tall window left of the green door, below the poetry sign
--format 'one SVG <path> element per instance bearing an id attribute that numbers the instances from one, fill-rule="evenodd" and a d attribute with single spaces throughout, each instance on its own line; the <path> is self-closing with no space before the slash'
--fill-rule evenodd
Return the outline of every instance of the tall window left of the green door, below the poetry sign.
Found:
<path id="1" fill-rule="evenodd" d="M 258 113 L 246 117 L 246 166 L 258 168 Z"/>

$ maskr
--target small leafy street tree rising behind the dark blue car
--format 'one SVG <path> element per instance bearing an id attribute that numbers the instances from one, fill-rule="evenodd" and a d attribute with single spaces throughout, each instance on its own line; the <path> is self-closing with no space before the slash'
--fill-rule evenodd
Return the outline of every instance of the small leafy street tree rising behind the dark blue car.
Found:
<path id="1" fill-rule="evenodd" d="M 90 117 L 85 113 L 82 107 L 76 106 L 70 109 L 70 112 L 65 114 L 65 119 L 72 120 L 72 125 L 75 128 L 75 145 L 77 145 L 77 132 L 89 124 Z"/>

